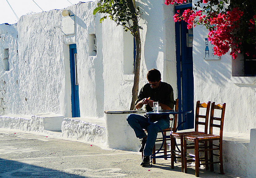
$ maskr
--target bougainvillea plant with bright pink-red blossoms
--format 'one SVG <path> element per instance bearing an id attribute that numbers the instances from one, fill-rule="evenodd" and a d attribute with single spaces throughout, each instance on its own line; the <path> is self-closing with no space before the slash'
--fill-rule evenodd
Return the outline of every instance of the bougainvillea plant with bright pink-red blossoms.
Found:
<path id="1" fill-rule="evenodd" d="M 165 4 L 184 2 L 186 0 L 166 0 Z M 231 48 L 233 59 L 240 52 L 250 56 L 243 46 L 256 43 L 254 0 L 200 0 L 194 5 L 193 10 L 184 10 L 182 14 L 178 10 L 174 21 L 186 21 L 188 29 L 204 25 L 209 30 L 208 39 L 214 45 L 214 55 L 222 56 Z M 256 58 L 255 51 L 253 53 L 252 57 Z"/>

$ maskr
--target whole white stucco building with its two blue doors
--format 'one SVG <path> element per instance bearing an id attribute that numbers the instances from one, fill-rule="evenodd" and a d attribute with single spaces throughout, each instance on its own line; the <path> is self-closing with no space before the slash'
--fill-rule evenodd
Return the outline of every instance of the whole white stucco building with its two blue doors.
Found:
<path id="1" fill-rule="evenodd" d="M 250 166 L 256 158 L 249 152 L 255 151 L 256 132 L 251 129 L 256 128 L 256 77 L 244 76 L 242 56 L 219 59 L 211 56 L 210 44 L 206 53 L 206 29 L 175 25 L 175 10 L 193 3 L 174 7 L 164 0 L 136 0 L 143 12 L 140 87 L 147 83 L 147 71 L 157 68 L 183 109 L 194 109 L 197 100 L 226 103 L 224 131 L 231 132 L 230 138 L 243 136 L 241 142 L 229 143 L 227 138 L 227 145 L 233 143 L 241 155 L 235 161 L 226 158 L 224 172 L 241 167 L 237 175 L 253 177 L 256 172 Z M 70 16 L 51 10 L 0 25 L 0 114 L 55 113 L 70 118 L 79 106 L 81 118 L 103 118 L 104 110 L 129 109 L 133 36 L 109 19 L 99 23 L 100 15 L 93 15 L 96 6 L 80 3 L 66 8 Z M 193 128 L 193 118 L 185 129 Z M 224 148 L 224 156 L 232 149 Z"/>

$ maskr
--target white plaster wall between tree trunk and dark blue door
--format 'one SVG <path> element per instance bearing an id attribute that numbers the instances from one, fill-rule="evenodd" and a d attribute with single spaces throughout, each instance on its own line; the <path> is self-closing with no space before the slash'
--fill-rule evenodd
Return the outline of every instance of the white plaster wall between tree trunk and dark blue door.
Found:
<path id="1" fill-rule="evenodd" d="M 142 41 L 142 61 L 140 72 L 141 88 L 147 83 L 147 71 L 156 68 L 162 74 L 162 81 L 170 83 L 177 96 L 177 71 L 175 47 L 175 23 L 172 19 L 173 6 L 166 6 L 164 0 L 136 1 L 141 9 L 139 24 Z"/>

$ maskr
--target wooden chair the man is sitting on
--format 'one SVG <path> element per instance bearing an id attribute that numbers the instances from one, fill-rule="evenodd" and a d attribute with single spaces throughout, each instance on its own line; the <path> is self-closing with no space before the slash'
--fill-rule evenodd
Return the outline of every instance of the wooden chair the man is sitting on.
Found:
<path id="1" fill-rule="evenodd" d="M 178 110 L 178 105 L 179 105 L 179 99 L 176 99 L 176 100 L 175 100 L 175 110 Z M 170 126 L 169 128 L 164 129 L 164 130 L 163 130 L 164 136 L 166 136 L 166 133 L 167 133 L 167 132 L 173 132 L 173 131 L 176 130 L 177 118 L 178 118 L 178 114 L 175 114 L 175 115 L 174 115 L 174 118 L 170 118 L 170 121 L 173 122 L 173 127 Z M 147 130 L 145 130 L 145 132 L 147 133 Z M 161 133 L 161 131 L 159 131 L 158 133 Z M 167 153 L 171 152 L 171 150 L 170 150 L 170 151 L 167 151 L 167 145 L 170 145 L 170 144 L 167 143 L 167 141 L 170 141 L 170 140 L 171 140 L 171 138 L 165 138 L 165 139 L 164 139 L 163 148 L 161 149 L 161 151 L 160 151 L 158 154 L 167 155 Z M 161 138 L 156 138 L 156 141 L 155 141 L 155 142 L 159 142 L 159 141 L 160 141 L 160 142 L 163 142 L 163 137 L 161 137 Z M 152 154 L 155 154 L 156 152 L 157 152 L 157 151 L 155 150 L 155 145 L 154 145 Z M 143 158 L 143 152 L 142 152 L 142 158 Z M 164 158 L 164 159 L 167 160 L 167 158 Z M 155 162 L 155 158 L 152 159 L 152 163 L 153 163 L 153 164 L 156 163 L 156 162 Z"/>

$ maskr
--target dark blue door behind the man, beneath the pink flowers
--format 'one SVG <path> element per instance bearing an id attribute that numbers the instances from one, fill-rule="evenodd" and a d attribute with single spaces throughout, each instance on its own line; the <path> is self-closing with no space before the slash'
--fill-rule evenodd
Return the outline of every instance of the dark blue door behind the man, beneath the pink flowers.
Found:
<path id="1" fill-rule="evenodd" d="M 186 9 L 192 9 L 192 3 L 175 6 L 175 13 L 180 10 L 182 14 Z M 177 85 L 179 110 L 192 110 L 187 114 L 187 121 L 178 130 L 194 128 L 194 77 L 193 77 L 193 56 L 192 44 L 189 41 L 192 29 L 187 29 L 185 21 L 175 23 L 176 33 L 176 59 L 177 59 Z M 179 115 L 179 123 L 184 121 L 185 115 Z"/>

